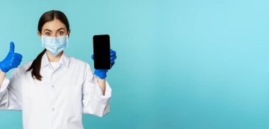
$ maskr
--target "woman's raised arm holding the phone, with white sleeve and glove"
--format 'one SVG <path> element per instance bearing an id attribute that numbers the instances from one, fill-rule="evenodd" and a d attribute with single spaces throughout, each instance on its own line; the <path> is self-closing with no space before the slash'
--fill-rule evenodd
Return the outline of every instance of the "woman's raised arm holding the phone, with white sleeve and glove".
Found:
<path id="1" fill-rule="evenodd" d="M 116 52 L 110 49 L 110 63 L 114 65 L 117 58 Z M 91 56 L 94 60 L 94 56 Z M 93 70 L 89 65 L 86 69 L 86 79 L 83 85 L 83 107 L 84 113 L 96 116 L 104 116 L 110 111 L 111 87 L 105 80 L 108 70 Z"/>

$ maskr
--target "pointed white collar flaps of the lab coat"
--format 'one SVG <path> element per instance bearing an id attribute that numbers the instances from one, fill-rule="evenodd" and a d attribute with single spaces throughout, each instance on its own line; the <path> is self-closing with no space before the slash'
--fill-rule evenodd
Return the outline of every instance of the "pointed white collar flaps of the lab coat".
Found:
<path id="1" fill-rule="evenodd" d="M 69 56 L 67 56 L 67 54 L 62 53 L 62 56 L 60 57 L 59 59 L 59 63 L 61 64 L 61 66 L 66 66 L 68 67 L 69 65 Z M 50 64 L 50 61 L 47 57 L 47 52 L 42 56 L 42 61 L 41 61 L 41 68 L 44 68 L 45 66 L 49 65 Z"/>

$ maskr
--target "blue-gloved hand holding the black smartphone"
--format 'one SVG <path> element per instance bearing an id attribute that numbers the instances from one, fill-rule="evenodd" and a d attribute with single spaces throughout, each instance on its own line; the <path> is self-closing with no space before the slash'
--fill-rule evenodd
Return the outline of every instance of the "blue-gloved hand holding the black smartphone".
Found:
<path id="1" fill-rule="evenodd" d="M 117 58 L 116 51 L 113 51 L 113 49 L 110 49 L 111 67 L 114 65 L 116 58 Z M 91 55 L 91 59 L 93 59 L 93 61 L 94 61 L 94 55 L 93 54 Z M 97 75 L 101 79 L 105 79 L 107 72 L 108 72 L 108 70 L 99 70 L 99 69 L 94 70 L 94 74 Z"/>

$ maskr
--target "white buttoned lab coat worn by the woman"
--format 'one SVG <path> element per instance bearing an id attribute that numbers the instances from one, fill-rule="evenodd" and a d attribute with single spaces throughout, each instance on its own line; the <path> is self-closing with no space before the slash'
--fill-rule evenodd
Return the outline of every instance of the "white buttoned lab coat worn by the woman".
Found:
<path id="1" fill-rule="evenodd" d="M 111 88 L 105 95 L 88 63 L 62 54 L 52 69 L 42 56 L 42 81 L 25 72 L 33 61 L 15 68 L 0 89 L 1 110 L 22 110 L 24 129 L 83 129 L 82 114 L 104 116 L 110 111 Z"/>

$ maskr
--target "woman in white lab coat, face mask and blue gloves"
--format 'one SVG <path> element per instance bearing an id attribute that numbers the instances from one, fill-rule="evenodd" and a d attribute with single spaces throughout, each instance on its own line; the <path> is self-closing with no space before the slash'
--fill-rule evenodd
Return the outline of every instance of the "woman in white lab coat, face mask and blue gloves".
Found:
<path id="1" fill-rule="evenodd" d="M 0 62 L 0 109 L 22 110 L 25 129 L 82 129 L 82 113 L 108 113 L 108 70 L 93 73 L 88 63 L 64 53 L 70 35 L 64 13 L 44 13 L 38 23 L 38 35 L 45 49 L 34 61 L 19 66 L 23 56 L 14 52 L 11 42 L 8 56 Z M 112 66 L 115 54 L 111 49 Z M 11 78 L 7 78 L 12 68 Z"/>

